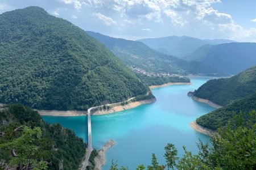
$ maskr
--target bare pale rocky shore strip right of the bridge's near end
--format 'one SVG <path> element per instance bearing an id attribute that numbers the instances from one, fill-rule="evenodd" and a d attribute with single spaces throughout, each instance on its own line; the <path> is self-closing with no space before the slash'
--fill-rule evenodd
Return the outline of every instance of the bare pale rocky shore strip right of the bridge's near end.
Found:
<path id="1" fill-rule="evenodd" d="M 94 158 L 96 170 L 101 170 L 101 167 L 106 164 L 106 151 L 115 145 L 115 141 L 110 140 L 107 142 L 100 150 L 98 150 L 98 155 Z"/>

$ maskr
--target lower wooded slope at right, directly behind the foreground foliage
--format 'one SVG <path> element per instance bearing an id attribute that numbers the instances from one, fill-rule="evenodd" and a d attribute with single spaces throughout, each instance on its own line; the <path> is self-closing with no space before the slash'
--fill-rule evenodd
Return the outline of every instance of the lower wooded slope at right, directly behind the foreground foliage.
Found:
<path id="1" fill-rule="evenodd" d="M 217 130 L 222 126 L 225 126 L 228 121 L 233 118 L 234 115 L 240 114 L 240 112 L 243 113 L 242 116 L 245 122 L 248 122 L 250 120 L 249 113 L 255 110 L 256 93 L 243 99 L 233 101 L 225 107 L 205 114 L 204 116 L 197 118 L 196 122 L 197 124 L 199 124 L 200 126 L 204 126 L 205 128 Z"/>

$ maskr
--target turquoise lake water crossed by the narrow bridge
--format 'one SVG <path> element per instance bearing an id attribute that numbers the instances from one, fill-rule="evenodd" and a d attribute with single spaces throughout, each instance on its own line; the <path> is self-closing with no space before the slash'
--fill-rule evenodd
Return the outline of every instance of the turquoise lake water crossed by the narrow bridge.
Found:
<path id="1" fill-rule="evenodd" d="M 144 164 L 146 167 L 151 163 L 152 153 L 156 154 L 160 164 L 165 164 L 163 155 L 167 143 L 175 144 L 179 156 L 183 154 L 183 145 L 187 150 L 196 153 L 196 142 L 199 138 L 205 142 L 209 137 L 193 130 L 189 122 L 213 111 L 214 108 L 187 96 L 188 91 L 197 89 L 208 79 L 191 80 L 191 85 L 152 90 L 157 99 L 155 103 L 113 114 L 92 116 L 93 147 L 99 149 L 110 139 L 117 142 L 107 152 L 107 162 L 102 169 L 109 169 L 112 159 L 118 160 L 119 165 L 129 169 L 135 169 L 138 164 Z M 44 116 L 44 120 L 71 128 L 79 137 L 87 140 L 86 116 Z"/>

